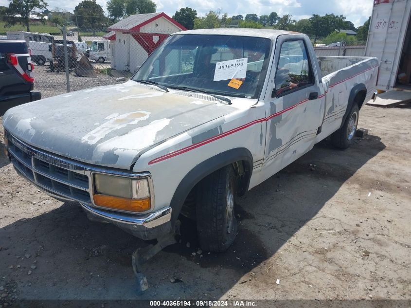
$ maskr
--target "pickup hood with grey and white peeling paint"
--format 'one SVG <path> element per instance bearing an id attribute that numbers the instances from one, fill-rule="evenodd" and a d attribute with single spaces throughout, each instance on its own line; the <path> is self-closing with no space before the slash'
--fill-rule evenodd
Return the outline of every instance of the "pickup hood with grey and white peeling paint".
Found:
<path id="1" fill-rule="evenodd" d="M 3 126 L 54 154 L 130 169 L 144 149 L 235 110 L 207 95 L 128 81 L 9 109 Z"/>

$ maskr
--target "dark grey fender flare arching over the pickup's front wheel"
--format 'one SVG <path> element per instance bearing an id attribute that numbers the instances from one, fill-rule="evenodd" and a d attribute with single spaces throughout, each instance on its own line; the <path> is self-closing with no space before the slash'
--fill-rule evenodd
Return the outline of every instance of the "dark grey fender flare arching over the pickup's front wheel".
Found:
<path id="1" fill-rule="evenodd" d="M 188 194 L 199 181 L 224 166 L 240 161 L 244 163 L 244 175 L 242 176 L 240 193 L 247 192 L 250 184 L 251 170 L 253 165 L 251 152 L 247 148 L 239 147 L 219 153 L 205 160 L 204 162 L 197 164 L 180 181 L 179 186 L 174 192 L 170 204 L 172 208 L 172 224 L 174 225 L 177 218 L 179 217 L 181 207 Z"/>

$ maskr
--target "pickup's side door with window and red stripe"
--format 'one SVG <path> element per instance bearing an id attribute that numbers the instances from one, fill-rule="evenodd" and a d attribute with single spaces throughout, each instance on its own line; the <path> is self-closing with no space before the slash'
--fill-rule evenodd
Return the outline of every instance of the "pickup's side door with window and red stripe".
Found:
<path id="1" fill-rule="evenodd" d="M 279 36 L 266 94 L 267 134 L 263 178 L 310 150 L 321 126 L 322 108 L 315 55 L 304 36 Z M 270 86 L 269 86 L 270 87 Z M 267 99 L 268 96 L 268 99 Z"/>

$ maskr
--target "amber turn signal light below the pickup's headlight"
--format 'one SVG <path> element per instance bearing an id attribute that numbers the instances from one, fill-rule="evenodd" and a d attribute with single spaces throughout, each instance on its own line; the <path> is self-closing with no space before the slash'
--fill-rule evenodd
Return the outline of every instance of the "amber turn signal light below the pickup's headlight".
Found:
<path id="1" fill-rule="evenodd" d="M 112 197 L 102 194 L 93 195 L 94 203 L 97 206 L 110 210 L 121 210 L 128 212 L 144 212 L 150 209 L 150 199 L 126 199 Z"/>

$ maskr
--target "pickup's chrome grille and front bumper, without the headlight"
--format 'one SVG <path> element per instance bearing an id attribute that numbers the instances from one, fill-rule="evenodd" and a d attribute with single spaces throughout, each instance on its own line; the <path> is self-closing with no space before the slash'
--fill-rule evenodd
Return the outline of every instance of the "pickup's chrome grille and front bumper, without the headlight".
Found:
<path id="1" fill-rule="evenodd" d="M 55 199 L 80 203 L 89 219 L 112 223 L 144 240 L 158 238 L 170 231 L 171 207 L 164 207 L 155 212 L 131 214 L 110 211 L 94 205 L 91 198 L 92 174 L 96 171 L 112 173 L 110 170 L 96 170 L 95 167 L 56 157 L 27 145 L 8 133 L 6 138 L 7 156 L 19 175 Z M 149 174 L 144 174 L 147 175 Z M 154 197 L 153 192 L 151 195 Z"/>

